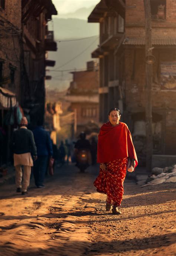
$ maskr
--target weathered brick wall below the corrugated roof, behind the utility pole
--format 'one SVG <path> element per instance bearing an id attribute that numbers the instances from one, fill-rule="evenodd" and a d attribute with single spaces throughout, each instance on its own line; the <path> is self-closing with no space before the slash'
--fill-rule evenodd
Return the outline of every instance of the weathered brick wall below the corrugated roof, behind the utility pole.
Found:
<path id="1" fill-rule="evenodd" d="M 134 53 L 136 51 L 136 53 Z M 145 62 L 144 49 L 126 49 L 126 106 L 130 113 L 143 113 L 139 120 L 144 118 L 145 113 Z M 136 54 L 136 57 L 134 57 Z M 164 139 L 161 145 L 162 153 L 176 154 L 176 91 L 162 90 L 160 86 L 160 63 L 166 61 L 176 61 L 176 52 L 170 49 L 160 49 L 153 51 L 156 56 L 156 64 L 153 70 L 152 108 L 153 115 L 158 114 L 162 119 L 162 132 L 160 138 Z M 157 59 L 159 57 L 159 60 Z M 159 65 L 159 72 L 156 74 L 156 67 Z M 155 67 L 156 66 L 156 67 Z M 133 116 L 135 119 L 135 115 Z M 153 121 L 155 117 L 153 118 Z M 133 131 L 132 131 L 133 133 Z M 163 138 L 164 136 L 164 138 Z"/>

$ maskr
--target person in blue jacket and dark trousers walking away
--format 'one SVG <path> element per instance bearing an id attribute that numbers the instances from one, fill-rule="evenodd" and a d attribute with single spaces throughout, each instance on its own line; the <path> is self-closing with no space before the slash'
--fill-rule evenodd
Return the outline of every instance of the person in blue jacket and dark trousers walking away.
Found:
<path id="1" fill-rule="evenodd" d="M 48 167 L 49 157 L 53 155 L 52 140 L 50 139 L 49 132 L 47 132 L 40 122 L 35 129 L 33 129 L 33 135 L 37 147 L 38 159 L 34 163 L 33 174 L 35 179 L 36 187 L 45 187 L 44 179 L 46 169 Z"/>

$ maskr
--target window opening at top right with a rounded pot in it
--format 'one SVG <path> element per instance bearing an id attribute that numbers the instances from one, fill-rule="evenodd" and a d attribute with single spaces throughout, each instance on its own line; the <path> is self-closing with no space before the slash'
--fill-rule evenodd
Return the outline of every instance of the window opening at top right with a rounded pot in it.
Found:
<path id="1" fill-rule="evenodd" d="M 150 0 L 150 6 L 152 19 L 166 19 L 166 0 Z"/>

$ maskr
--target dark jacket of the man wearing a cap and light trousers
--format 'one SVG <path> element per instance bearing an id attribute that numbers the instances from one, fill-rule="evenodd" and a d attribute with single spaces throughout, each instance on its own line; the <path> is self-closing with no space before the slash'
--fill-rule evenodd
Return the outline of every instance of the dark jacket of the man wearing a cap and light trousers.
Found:
<path id="1" fill-rule="evenodd" d="M 14 154 L 31 153 L 37 155 L 37 149 L 32 131 L 20 128 L 13 132 L 10 148 Z"/>

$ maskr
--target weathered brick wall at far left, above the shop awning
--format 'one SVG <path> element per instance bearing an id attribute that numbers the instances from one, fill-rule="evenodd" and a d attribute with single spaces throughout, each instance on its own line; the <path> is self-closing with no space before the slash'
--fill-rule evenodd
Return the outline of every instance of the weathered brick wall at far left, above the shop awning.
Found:
<path id="1" fill-rule="evenodd" d="M 1 9 L 0 59 L 3 62 L 3 86 L 16 92 L 20 101 L 20 40 L 21 40 L 21 1 L 6 0 Z M 14 68 L 14 83 L 10 81 L 10 66 Z"/>

